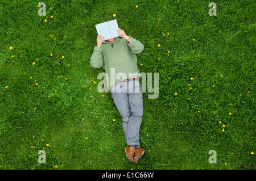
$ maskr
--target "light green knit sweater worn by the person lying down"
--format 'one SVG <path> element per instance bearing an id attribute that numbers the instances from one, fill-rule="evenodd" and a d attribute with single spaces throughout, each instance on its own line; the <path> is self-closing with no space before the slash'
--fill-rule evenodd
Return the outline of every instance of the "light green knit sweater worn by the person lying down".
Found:
<path id="1" fill-rule="evenodd" d="M 110 90 L 123 79 L 140 75 L 136 54 L 143 49 L 144 45 L 133 37 L 130 43 L 124 38 L 116 37 L 113 43 L 103 42 L 100 48 L 94 47 L 90 65 L 105 69 L 105 81 Z"/>

